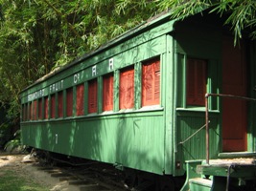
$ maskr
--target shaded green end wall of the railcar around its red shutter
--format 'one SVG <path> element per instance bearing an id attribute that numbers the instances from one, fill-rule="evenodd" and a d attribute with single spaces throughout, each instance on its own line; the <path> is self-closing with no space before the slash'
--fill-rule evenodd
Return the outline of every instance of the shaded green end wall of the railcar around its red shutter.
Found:
<path id="1" fill-rule="evenodd" d="M 185 160 L 205 159 L 205 128 L 190 138 L 205 124 L 205 107 L 186 103 L 186 73 L 188 57 L 207 62 L 207 93 L 220 93 L 221 87 L 221 31 L 200 22 L 184 21 L 175 26 L 175 64 L 177 68 L 177 98 L 175 105 L 175 157 L 174 175 L 185 173 Z M 221 108 L 219 98 L 209 99 L 210 109 L 210 159 L 221 152 Z M 186 138 L 186 142 L 180 143 Z M 180 162 L 181 167 L 176 163 Z"/>

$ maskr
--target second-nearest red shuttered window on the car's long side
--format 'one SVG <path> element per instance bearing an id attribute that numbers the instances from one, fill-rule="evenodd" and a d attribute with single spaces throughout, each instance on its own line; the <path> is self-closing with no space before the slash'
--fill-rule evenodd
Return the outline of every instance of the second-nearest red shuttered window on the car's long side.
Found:
<path id="1" fill-rule="evenodd" d="M 119 109 L 134 107 L 134 69 L 128 68 L 120 73 Z"/>

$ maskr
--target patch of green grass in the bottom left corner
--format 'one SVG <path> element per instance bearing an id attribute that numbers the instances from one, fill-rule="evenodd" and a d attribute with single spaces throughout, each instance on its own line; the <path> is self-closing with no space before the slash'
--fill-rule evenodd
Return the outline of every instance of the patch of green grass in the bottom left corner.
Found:
<path id="1" fill-rule="evenodd" d="M 12 170 L 3 170 L 0 173 L 0 191 L 47 191 L 43 185 L 35 180 L 22 177 Z"/>

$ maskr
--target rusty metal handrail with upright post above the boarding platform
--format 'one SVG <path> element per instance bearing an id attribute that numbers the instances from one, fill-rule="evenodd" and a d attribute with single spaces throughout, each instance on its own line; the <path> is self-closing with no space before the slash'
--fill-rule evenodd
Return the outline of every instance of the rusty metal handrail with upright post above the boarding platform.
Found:
<path id="1" fill-rule="evenodd" d="M 250 98 L 246 96 L 234 96 L 234 95 L 222 95 L 222 94 L 205 94 L 205 139 L 206 139 L 206 164 L 209 164 L 209 106 L 208 106 L 208 98 L 209 96 L 221 96 L 221 97 L 228 97 L 228 98 L 236 98 L 236 99 L 244 99 L 247 101 L 256 101 L 255 98 Z"/>

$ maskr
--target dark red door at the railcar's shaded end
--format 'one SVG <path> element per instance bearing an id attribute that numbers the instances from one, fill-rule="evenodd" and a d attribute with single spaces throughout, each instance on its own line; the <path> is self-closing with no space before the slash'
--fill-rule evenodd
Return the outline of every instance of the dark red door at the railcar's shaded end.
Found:
<path id="1" fill-rule="evenodd" d="M 234 48 L 233 37 L 224 37 L 222 45 L 222 93 L 246 96 L 244 43 Z M 222 98 L 222 151 L 246 151 L 246 101 Z"/>

